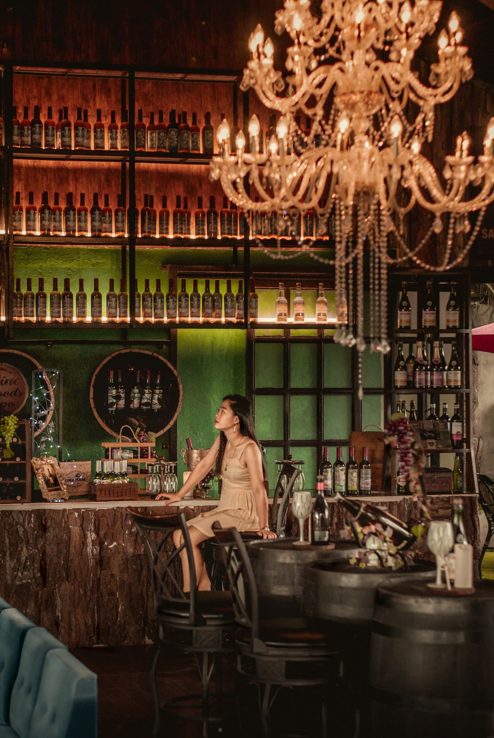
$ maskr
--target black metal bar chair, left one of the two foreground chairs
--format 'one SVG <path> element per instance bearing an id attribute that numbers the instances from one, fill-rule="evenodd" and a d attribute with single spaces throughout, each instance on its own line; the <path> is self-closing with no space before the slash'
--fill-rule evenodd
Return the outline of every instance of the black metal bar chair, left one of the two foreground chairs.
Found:
<path id="1" fill-rule="evenodd" d="M 158 637 L 155 641 L 154 658 L 151 666 L 151 689 L 154 698 L 156 735 L 159 728 L 160 711 L 191 703 L 192 711 L 200 714 L 178 714 L 185 720 L 198 720 L 205 734 L 207 723 L 222 720 L 221 715 L 210 715 L 208 687 L 213 671 L 216 671 L 216 694 L 222 694 L 221 658 L 232 652 L 235 621 L 232 598 L 229 592 L 198 592 L 193 552 L 185 515 L 141 515 L 129 511 L 143 540 L 145 553 L 151 568 L 153 609 L 157 616 Z M 174 547 L 174 531 L 181 531 L 183 542 Z M 185 592 L 182 585 L 180 554 L 186 551 L 191 572 L 191 591 Z M 174 697 L 159 703 L 156 685 L 156 667 L 161 646 L 171 646 L 196 659 L 202 682 L 202 694 Z M 194 704 L 195 702 L 195 704 Z"/>

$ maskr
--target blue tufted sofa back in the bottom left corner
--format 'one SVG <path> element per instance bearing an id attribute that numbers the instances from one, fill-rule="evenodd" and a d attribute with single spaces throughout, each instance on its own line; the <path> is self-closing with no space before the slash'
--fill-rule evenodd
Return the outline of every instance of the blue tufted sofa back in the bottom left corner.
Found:
<path id="1" fill-rule="evenodd" d="M 0 599 L 0 738 L 96 736 L 96 675 Z"/>

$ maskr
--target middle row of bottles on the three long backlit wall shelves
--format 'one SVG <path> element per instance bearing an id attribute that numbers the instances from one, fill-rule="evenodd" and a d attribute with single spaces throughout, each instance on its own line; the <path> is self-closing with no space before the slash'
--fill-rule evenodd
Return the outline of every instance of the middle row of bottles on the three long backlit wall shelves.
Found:
<path id="1" fill-rule="evenodd" d="M 13 206 L 13 232 L 27 235 L 85 235 L 120 236 L 128 232 L 129 209 L 123 206 L 123 196 L 117 195 L 117 207 L 113 210 L 110 196 L 105 194 L 103 207 L 99 204 L 99 193 L 93 193 L 92 207 L 86 205 L 86 193 L 80 193 L 78 207 L 72 192 L 66 194 L 66 204 L 60 204 L 60 195 L 54 193 L 53 204 L 49 204 L 48 191 L 41 193 L 41 204 L 36 207 L 34 192 L 28 193 L 24 207 L 21 193 L 16 192 Z M 143 238 L 242 238 L 244 218 L 239 217 L 236 205 L 223 197 L 223 207 L 218 212 L 216 199 L 209 197 L 209 207 L 203 207 L 203 198 L 198 196 L 196 210 L 189 209 L 188 197 L 176 196 L 176 207 L 168 210 L 166 195 L 162 195 L 162 207 L 154 207 L 154 196 L 145 194 L 143 207 L 135 210 L 137 235 Z M 170 232 L 170 225 L 172 230 Z M 329 238 L 328 218 L 308 210 L 303 218 L 300 213 L 292 218 L 278 213 L 250 213 L 248 220 L 250 238 Z"/>

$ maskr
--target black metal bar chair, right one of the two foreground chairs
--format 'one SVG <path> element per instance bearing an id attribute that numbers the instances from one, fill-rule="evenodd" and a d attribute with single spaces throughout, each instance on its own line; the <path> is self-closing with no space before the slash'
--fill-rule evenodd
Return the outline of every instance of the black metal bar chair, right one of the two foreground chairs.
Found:
<path id="1" fill-rule="evenodd" d="M 247 549 L 236 528 L 213 523 L 240 626 L 236 632 L 237 672 L 258 688 L 261 726 L 270 736 L 270 710 L 284 687 L 321 688 L 321 736 L 326 738 L 326 699 L 330 682 L 343 675 L 340 649 L 326 628 L 303 618 L 259 621 L 258 592 Z M 312 735 L 314 735 L 312 733 Z"/>

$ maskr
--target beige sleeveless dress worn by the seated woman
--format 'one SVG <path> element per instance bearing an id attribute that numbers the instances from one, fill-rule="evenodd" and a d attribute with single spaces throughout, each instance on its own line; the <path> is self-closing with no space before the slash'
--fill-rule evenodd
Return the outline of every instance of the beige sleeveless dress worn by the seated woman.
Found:
<path id="1" fill-rule="evenodd" d="M 248 444 L 253 444 L 250 438 L 244 444 L 237 446 L 236 453 L 231 459 L 223 457 L 222 463 L 222 494 L 219 506 L 209 512 L 202 512 L 187 525 L 193 525 L 199 531 L 213 537 L 211 527 L 216 520 L 223 528 L 237 528 L 239 531 L 257 531 L 259 519 L 255 508 L 255 499 L 251 489 L 248 469 L 240 465 L 240 460 Z M 227 467 L 225 469 L 225 466 Z"/>

